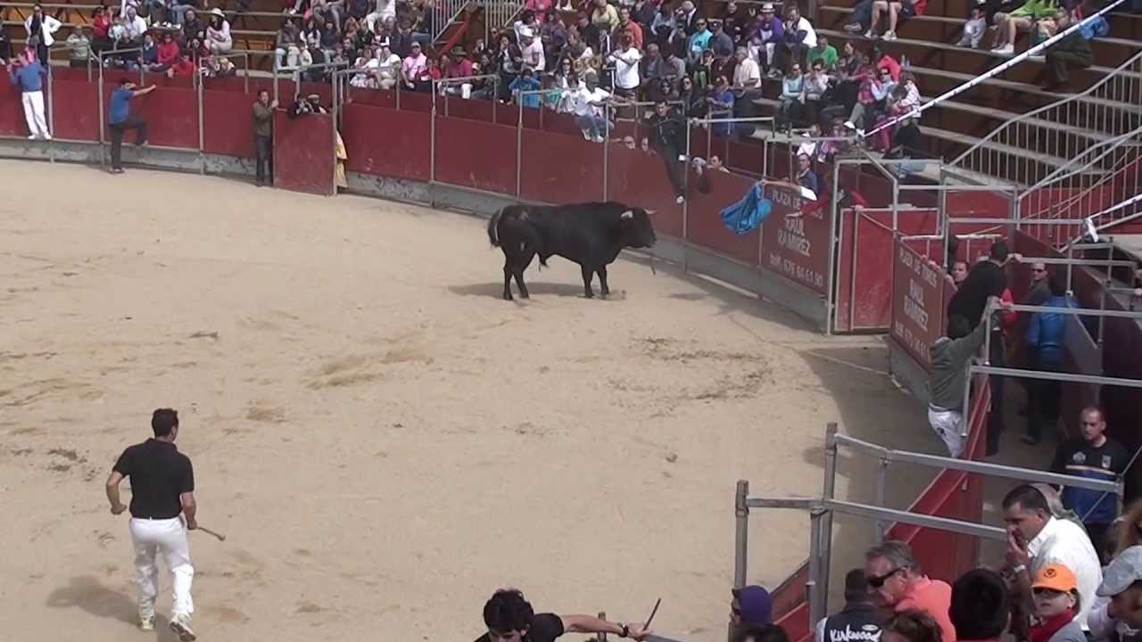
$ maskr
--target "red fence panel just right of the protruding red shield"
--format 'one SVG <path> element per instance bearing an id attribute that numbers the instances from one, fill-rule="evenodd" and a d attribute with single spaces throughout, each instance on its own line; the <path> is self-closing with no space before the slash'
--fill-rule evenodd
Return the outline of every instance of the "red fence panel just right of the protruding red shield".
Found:
<path id="1" fill-rule="evenodd" d="M 341 110 L 341 137 L 349 171 L 428 180 L 432 152 L 429 115 L 370 107 L 360 103 Z"/>

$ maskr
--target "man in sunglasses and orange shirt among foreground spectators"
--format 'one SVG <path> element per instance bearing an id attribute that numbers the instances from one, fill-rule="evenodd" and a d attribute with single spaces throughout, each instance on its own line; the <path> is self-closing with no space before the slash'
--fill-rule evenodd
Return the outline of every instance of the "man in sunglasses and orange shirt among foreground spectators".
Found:
<path id="1" fill-rule="evenodd" d="M 940 625 L 943 642 L 956 642 L 956 627 L 948 617 L 951 586 L 928 579 L 907 544 L 892 539 L 869 548 L 864 553 L 864 578 L 885 607 L 898 613 L 923 611 Z"/>

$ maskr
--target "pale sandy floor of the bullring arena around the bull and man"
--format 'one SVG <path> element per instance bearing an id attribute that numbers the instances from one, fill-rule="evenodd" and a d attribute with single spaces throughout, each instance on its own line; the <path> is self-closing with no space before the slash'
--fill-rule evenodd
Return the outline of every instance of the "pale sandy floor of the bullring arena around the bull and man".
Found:
<path id="1" fill-rule="evenodd" d="M 723 640 L 735 480 L 819 492 L 829 420 L 939 449 L 878 339 L 665 266 L 620 260 L 616 296 L 587 300 L 553 259 L 513 304 L 475 217 L 0 174 L 3 642 L 172 639 L 134 627 L 127 519 L 103 496 L 156 407 L 179 410 L 200 522 L 228 535 L 191 533 L 204 641 L 472 640 L 502 585 L 629 619 L 661 596 L 656 628 Z M 757 514 L 751 579 L 783 578 L 806 531 Z"/>

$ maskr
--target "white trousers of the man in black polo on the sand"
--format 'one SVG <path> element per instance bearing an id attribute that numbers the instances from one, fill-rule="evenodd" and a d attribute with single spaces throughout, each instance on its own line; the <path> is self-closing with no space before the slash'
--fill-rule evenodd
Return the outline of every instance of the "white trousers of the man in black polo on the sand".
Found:
<path id="1" fill-rule="evenodd" d="M 191 547 L 186 541 L 183 520 L 131 519 L 131 544 L 135 546 L 135 583 L 139 589 L 139 617 L 154 617 L 154 599 L 159 594 L 159 553 L 167 559 L 174 579 L 174 605 L 171 617 L 194 612 L 191 601 L 191 584 L 194 567 L 191 565 Z"/>

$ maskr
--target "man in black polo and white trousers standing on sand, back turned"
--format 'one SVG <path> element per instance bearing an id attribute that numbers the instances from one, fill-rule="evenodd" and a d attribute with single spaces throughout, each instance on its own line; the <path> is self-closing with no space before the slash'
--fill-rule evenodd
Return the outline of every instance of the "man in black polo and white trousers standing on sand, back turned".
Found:
<path id="1" fill-rule="evenodd" d="M 107 500 L 111 514 L 127 509 L 119 499 L 119 483 L 131 480 L 131 543 L 135 545 L 135 581 L 139 589 L 139 627 L 154 629 L 154 599 L 158 594 L 159 567 L 155 554 L 162 552 L 167 567 L 175 576 L 170 628 L 183 642 L 194 640 L 191 629 L 191 584 L 194 567 L 186 541 L 187 529 L 198 528 L 194 514 L 194 471 L 191 460 L 175 448 L 178 436 L 178 414 L 160 408 L 151 417 L 154 439 L 123 451 L 107 478 Z M 186 519 L 184 522 L 179 514 Z"/>

